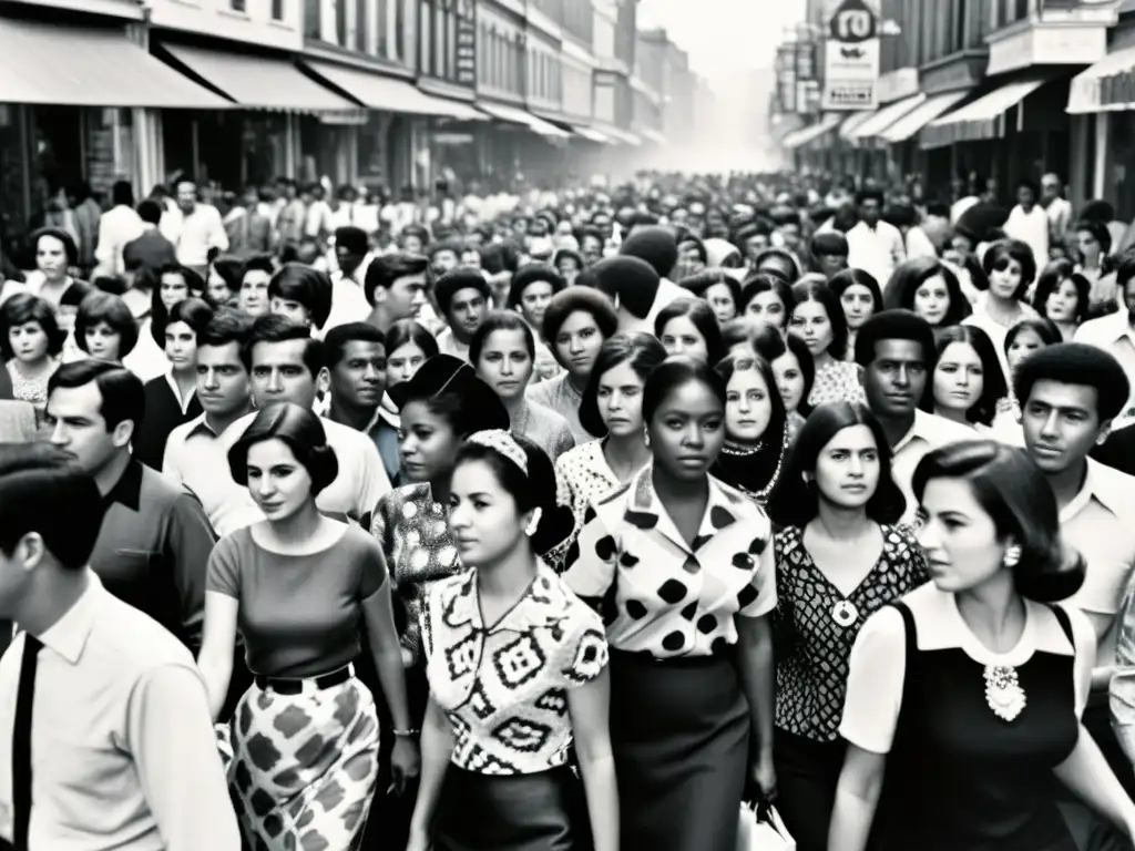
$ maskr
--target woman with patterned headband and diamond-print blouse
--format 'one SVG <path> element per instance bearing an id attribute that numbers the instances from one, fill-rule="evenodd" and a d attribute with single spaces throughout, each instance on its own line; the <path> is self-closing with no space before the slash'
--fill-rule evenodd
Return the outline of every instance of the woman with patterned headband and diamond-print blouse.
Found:
<path id="1" fill-rule="evenodd" d="M 598 615 L 540 558 L 557 542 L 555 512 L 555 471 L 539 447 L 506 431 L 465 439 L 448 524 L 468 570 L 438 582 L 422 612 L 430 699 L 409 851 L 619 848 L 607 642 Z M 519 646 L 531 660 L 522 677 Z M 470 652 L 495 663 L 454 666 Z"/>

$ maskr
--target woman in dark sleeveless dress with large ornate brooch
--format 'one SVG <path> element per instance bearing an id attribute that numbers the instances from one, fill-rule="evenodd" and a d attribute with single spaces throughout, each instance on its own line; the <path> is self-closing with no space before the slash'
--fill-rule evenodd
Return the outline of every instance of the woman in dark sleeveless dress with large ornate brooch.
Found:
<path id="1" fill-rule="evenodd" d="M 1084 581 L 1023 449 L 927 454 L 914 474 L 933 582 L 875 613 L 851 651 L 839 848 L 1073 851 L 1053 780 L 1118 826 L 1128 800 L 1081 724 L 1095 633 L 1058 605 Z M 885 772 L 885 780 L 884 780 Z"/>

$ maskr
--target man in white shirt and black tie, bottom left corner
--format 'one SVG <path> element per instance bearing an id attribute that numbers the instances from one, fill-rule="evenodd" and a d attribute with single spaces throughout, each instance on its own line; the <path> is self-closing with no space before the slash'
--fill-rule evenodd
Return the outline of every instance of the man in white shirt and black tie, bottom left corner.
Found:
<path id="1" fill-rule="evenodd" d="M 190 651 L 87 567 L 94 480 L 45 444 L 0 448 L 0 836 L 17 849 L 238 851 Z M 10 768 L 10 770 L 8 770 Z"/>

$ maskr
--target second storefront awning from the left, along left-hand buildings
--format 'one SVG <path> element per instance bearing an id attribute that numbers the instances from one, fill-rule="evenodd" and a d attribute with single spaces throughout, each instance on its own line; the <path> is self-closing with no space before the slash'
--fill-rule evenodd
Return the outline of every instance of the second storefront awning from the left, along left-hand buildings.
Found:
<path id="1" fill-rule="evenodd" d="M 338 112 L 359 110 L 303 74 L 287 59 L 162 43 L 162 49 L 217 91 L 246 109 L 280 112 Z"/>

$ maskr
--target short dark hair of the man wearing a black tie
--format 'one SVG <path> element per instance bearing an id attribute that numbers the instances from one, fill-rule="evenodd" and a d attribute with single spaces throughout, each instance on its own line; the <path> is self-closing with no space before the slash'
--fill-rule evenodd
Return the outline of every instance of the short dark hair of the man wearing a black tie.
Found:
<path id="1" fill-rule="evenodd" d="M 47 443 L 0 444 L 0 553 L 36 533 L 59 564 L 86 566 L 102 528 L 94 479 Z"/>

